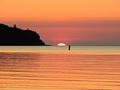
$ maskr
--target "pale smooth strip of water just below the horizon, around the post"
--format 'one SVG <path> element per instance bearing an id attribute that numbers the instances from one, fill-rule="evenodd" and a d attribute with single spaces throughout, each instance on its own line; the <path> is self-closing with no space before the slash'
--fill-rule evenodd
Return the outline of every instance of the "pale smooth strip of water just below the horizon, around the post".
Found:
<path id="1" fill-rule="evenodd" d="M 0 53 L 38 53 L 53 55 L 120 55 L 120 46 L 0 46 Z"/>

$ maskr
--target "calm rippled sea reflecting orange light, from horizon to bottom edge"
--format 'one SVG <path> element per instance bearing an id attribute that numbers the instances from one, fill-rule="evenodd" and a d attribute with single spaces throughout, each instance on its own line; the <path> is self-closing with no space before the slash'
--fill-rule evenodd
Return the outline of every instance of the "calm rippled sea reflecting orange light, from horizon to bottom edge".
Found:
<path id="1" fill-rule="evenodd" d="M 0 90 L 120 90 L 119 47 L 49 48 L 0 47 Z"/>

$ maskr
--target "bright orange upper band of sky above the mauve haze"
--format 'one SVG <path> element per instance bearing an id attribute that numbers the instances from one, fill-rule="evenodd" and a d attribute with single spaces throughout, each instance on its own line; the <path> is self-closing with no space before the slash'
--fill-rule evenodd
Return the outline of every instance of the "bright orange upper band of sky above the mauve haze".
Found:
<path id="1" fill-rule="evenodd" d="M 0 0 L 0 20 L 120 19 L 120 0 Z"/>

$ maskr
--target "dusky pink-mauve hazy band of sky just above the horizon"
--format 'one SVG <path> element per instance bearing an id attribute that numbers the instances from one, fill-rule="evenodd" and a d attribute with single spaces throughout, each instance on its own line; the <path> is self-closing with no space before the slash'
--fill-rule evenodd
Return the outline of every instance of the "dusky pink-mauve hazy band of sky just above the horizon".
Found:
<path id="1" fill-rule="evenodd" d="M 17 22 L 5 23 L 13 26 Z M 57 45 L 60 42 L 68 45 L 120 45 L 120 21 L 19 22 L 17 26 L 35 30 L 42 40 L 51 45 Z"/>

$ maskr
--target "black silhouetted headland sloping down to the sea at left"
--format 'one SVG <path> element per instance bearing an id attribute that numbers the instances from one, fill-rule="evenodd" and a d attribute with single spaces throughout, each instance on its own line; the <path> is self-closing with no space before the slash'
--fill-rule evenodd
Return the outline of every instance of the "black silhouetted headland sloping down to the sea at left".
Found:
<path id="1" fill-rule="evenodd" d="M 32 30 L 22 30 L 0 24 L 0 46 L 44 46 L 39 34 Z"/>

